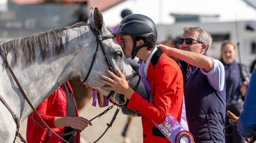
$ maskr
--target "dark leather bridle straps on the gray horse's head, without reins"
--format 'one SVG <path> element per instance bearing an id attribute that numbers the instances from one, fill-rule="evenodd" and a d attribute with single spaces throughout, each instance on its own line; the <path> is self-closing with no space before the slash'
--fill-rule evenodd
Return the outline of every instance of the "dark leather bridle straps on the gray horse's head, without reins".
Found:
<path id="1" fill-rule="evenodd" d="M 80 79 L 78 79 L 78 81 L 79 81 L 80 83 L 84 83 L 84 82 L 87 80 L 87 78 L 89 77 L 89 74 L 90 74 L 90 72 L 91 72 L 91 69 L 93 68 L 93 65 L 94 65 L 94 61 L 95 61 L 95 59 L 96 59 L 96 57 L 97 57 L 99 44 L 100 44 L 100 48 L 101 48 L 101 50 L 102 50 L 102 52 L 103 52 L 104 59 L 105 59 L 107 65 L 109 66 L 109 70 L 110 70 L 111 72 L 113 72 L 113 73 L 116 75 L 116 73 L 115 73 L 115 71 L 114 71 L 114 68 L 113 68 L 113 66 L 112 66 L 112 64 L 111 64 L 111 62 L 110 62 L 110 60 L 109 60 L 109 57 L 108 57 L 108 55 L 107 55 L 107 53 L 106 53 L 106 51 L 105 51 L 105 48 L 104 48 L 104 46 L 103 46 L 103 44 L 102 44 L 102 40 L 104 40 L 104 39 L 109 39 L 109 38 L 115 39 L 116 36 L 115 36 L 115 35 L 106 35 L 106 36 L 102 36 L 102 37 L 101 37 L 99 31 L 97 31 L 97 30 L 95 29 L 95 26 L 94 26 L 94 22 L 93 22 L 93 21 L 90 22 L 90 27 L 91 27 L 91 30 L 92 30 L 92 31 L 94 32 L 94 34 L 96 35 L 96 37 L 97 37 L 96 41 L 97 41 L 98 43 L 97 43 L 96 52 L 94 53 L 94 56 L 93 56 L 93 61 L 91 62 L 90 69 L 89 69 L 89 71 L 88 71 L 88 73 L 87 73 L 85 79 L 84 79 L 82 82 L 81 82 Z M 139 76 L 139 80 L 138 80 L 138 82 L 137 82 L 137 84 L 136 84 L 136 86 L 135 86 L 135 88 L 134 88 L 134 91 L 135 91 L 135 90 L 138 88 L 138 86 L 139 86 L 141 76 L 139 75 L 139 73 L 135 72 L 135 73 L 133 73 L 133 74 L 131 74 L 131 75 L 125 77 L 126 81 L 128 81 L 129 79 L 131 79 L 131 78 L 133 78 L 133 77 L 135 77 L 135 76 L 137 76 L 137 75 Z M 114 93 L 114 91 L 112 90 L 106 98 L 109 99 L 113 93 Z M 119 106 L 124 105 L 124 104 L 126 103 L 126 100 L 125 100 L 124 103 L 117 103 L 117 102 L 115 101 L 115 95 L 116 95 L 116 94 L 117 94 L 117 93 L 114 94 L 113 101 L 114 101 L 116 104 L 118 104 Z"/>

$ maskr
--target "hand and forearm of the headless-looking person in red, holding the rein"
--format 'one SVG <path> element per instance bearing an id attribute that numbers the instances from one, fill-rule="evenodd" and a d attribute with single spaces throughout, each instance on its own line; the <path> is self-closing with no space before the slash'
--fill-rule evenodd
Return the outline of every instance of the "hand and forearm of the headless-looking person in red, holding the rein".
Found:
<path id="1" fill-rule="evenodd" d="M 56 128 L 59 127 L 71 127 L 73 129 L 84 130 L 88 127 L 88 124 L 91 126 L 91 122 L 83 117 L 55 117 L 54 125 Z"/>

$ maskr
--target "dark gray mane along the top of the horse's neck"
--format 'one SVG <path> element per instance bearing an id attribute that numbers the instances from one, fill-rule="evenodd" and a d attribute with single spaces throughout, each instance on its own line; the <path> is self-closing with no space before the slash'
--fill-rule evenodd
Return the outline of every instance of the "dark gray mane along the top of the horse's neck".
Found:
<path id="1" fill-rule="evenodd" d="M 63 34 L 67 34 L 66 41 L 68 45 L 68 30 L 72 28 L 81 28 L 82 26 L 86 25 L 88 25 L 86 22 L 81 21 L 62 29 L 48 30 L 47 32 L 40 34 L 19 37 L 17 39 L 1 43 L 0 48 L 6 55 L 8 55 L 11 48 L 13 48 L 15 55 L 14 65 L 18 65 L 19 60 L 22 60 L 22 62 L 25 64 L 32 64 L 35 62 L 37 44 L 39 47 L 41 47 L 39 48 L 41 60 L 46 60 L 52 55 L 60 55 L 64 52 L 64 46 L 62 42 Z M 53 52 L 51 52 L 50 44 L 53 44 L 53 47 L 55 47 Z"/>

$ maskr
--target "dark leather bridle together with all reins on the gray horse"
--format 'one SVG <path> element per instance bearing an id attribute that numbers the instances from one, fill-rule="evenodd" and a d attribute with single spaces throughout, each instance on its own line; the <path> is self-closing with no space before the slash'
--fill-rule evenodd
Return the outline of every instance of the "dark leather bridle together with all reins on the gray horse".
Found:
<path id="1" fill-rule="evenodd" d="M 110 60 L 109 60 L 109 58 L 108 58 L 108 55 L 106 54 L 106 51 L 105 51 L 105 49 L 104 49 L 104 47 L 103 47 L 103 44 L 102 44 L 102 40 L 104 40 L 104 39 L 109 39 L 109 38 L 115 38 L 115 35 L 107 35 L 107 36 L 101 37 L 101 35 L 99 34 L 99 32 L 94 28 L 93 21 L 90 22 L 90 26 L 91 26 L 91 29 L 93 30 L 94 34 L 97 36 L 97 39 L 96 39 L 96 40 L 97 40 L 98 43 L 97 43 L 96 52 L 95 52 L 95 54 L 94 54 L 93 62 L 91 62 L 90 69 L 89 69 L 89 71 L 88 71 L 88 73 L 87 73 L 87 75 L 86 75 L 84 81 L 81 82 L 80 79 L 78 79 L 79 82 L 81 82 L 81 83 L 84 83 L 84 82 L 87 80 L 87 78 L 89 77 L 90 71 L 91 71 L 91 69 L 92 69 L 92 67 L 93 67 L 93 65 L 94 65 L 94 61 L 95 61 L 96 56 L 97 56 L 97 51 L 98 51 L 99 43 L 100 43 L 100 47 L 101 47 L 101 49 L 102 49 L 102 52 L 103 52 L 103 54 L 104 54 L 105 61 L 106 61 L 106 63 L 107 63 L 108 66 L 109 66 L 109 70 L 110 70 L 111 72 L 113 72 L 113 73 L 116 75 L 116 73 L 115 73 L 115 71 L 114 71 L 114 68 L 113 68 L 113 66 L 112 66 L 112 64 L 111 64 L 111 62 L 110 62 Z M 71 132 L 69 132 L 69 133 L 65 133 L 65 134 L 56 134 L 51 128 L 48 127 L 48 125 L 43 121 L 43 119 L 42 119 L 42 118 L 40 117 L 40 115 L 38 114 L 37 110 L 35 110 L 35 108 L 34 108 L 33 105 L 31 104 L 31 102 L 29 101 L 29 99 L 28 99 L 27 95 L 25 94 L 23 88 L 20 86 L 20 84 L 19 84 L 19 82 L 18 82 L 18 79 L 16 78 L 16 76 L 15 76 L 15 74 L 14 74 L 14 72 L 13 72 L 11 66 L 9 65 L 9 63 L 8 63 L 8 61 L 7 61 L 7 58 L 6 58 L 7 55 L 4 56 L 1 51 L 0 51 L 0 54 L 1 54 L 1 56 L 3 57 L 6 67 L 9 69 L 9 71 L 10 71 L 11 75 L 13 76 L 13 78 L 14 78 L 14 80 L 15 80 L 17 86 L 19 87 L 20 92 L 22 92 L 22 94 L 23 94 L 25 100 L 28 102 L 29 106 L 32 108 L 32 110 L 33 110 L 34 113 L 37 115 L 37 117 L 39 118 L 39 120 L 45 125 L 45 127 L 46 127 L 49 131 L 48 131 L 48 130 L 45 130 L 43 127 L 41 127 L 41 126 L 40 126 L 37 122 L 35 122 L 30 116 L 29 116 L 29 118 L 31 118 L 32 121 L 35 122 L 38 126 L 40 126 L 43 130 L 45 130 L 45 131 L 48 132 L 48 133 L 54 134 L 55 136 L 57 136 L 59 139 L 61 139 L 62 141 L 66 142 L 66 143 L 69 143 L 69 142 L 72 141 L 73 139 L 72 139 L 72 140 L 69 140 L 69 141 L 66 141 L 66 140 L 62 139 L 60 136 L 67 136 L 67 135 L 73 134 L 72 137 L 74 137 L 74 139 L 75 139 L 76 132 L 79 131 L 79 130 L 76 130 L 76 129 L 75 129 L 75 130 L 73 130 L 73 131 L 71 131 Z M 141 79 L 140 75 L 136 72 L 136 73 L 133 73 L 133 74 L 131 74 L 131 75 L 129 75 L 129 76 L 126 77 L 126 81 L 128 81 L 129 79 L 131 79 L 131 78 L 133 78 L 133 77 L 135 77 L 135 76 L 137 76 L 137 75 L 139 76 L 139 80 L 138 80 L 138 82 L 137 82 L 137 85 L 136 85 L 135 88 L 134 88 L 134 91 L 135 91 L 135 90 L 138 88 L 138 86 L 139 86 L 139 82 L 140 82 L 140 79 Z M 109 99 L 110 96 L 111 96 L 113 93 L 114 93 L 114 91 L 111 91 L 111 92 L 109 93 L 107 99 Z M 26 140 L 25 140 L 25 139 L 20 135 L 20 133 L 19 133 L 19 127 L 20 127 L 20 125 L 19 125 L 19 118 L 18 118 L 18 116 L 12 111 L 12 109 L 10 108 L 10 106 L 5 102 L 5 100 L 3 99 L 3 97 L 2 97 L 1 95 L 0 95 L 0 100 L 1 100 L 1 102 L 6 106 L 6 108 L 8 108 L 8 110 L 11 112 L 11 114 L 12 114 L 12 116 L 13 116 L 13 119 L 14 119 L 14 121 L 15 121 L 15 123 L 16 123 L 16 127 L 17 127 L 17 128 L 16 128 L 16 134 L 15 134 L 15 138 L 14 138 L 13 143 L 15 142 L 15 140 L 16 140 L 17 137 L 19 137 L 22 142 L 27 143 Z M 116 104 L 116 103 L 115 103 L 115 104 Z M 113 108 L 113 106 L 114 106 L 115 104 L 113 104 L 112 106 L 110 106 L 108 109 L 106 109 L 105 111 L 103 111 L 102 113 L 100 113 L 100 114 L 99 114 L 98 116 L 96 116 L 95 118 L 100 117 L 101 115 L 103 115 L 103 114 L 105 114 L 106 112 L 108 112 L 110 109 Z M 118 104 L 118 103 L 117 103 L 117 104 Z M 117 116 L 117 113 L 119 112 L 119 109 L 120 109 L 120 105 L 121 105 L 121 104 L 118 104 L 118 105 L 119 105 L 119 106 L 117 107 L 116 112 L 115 112 L 115 114 L 114 114 L 114 116 L 113 116 L 113 118 L 112 118 L 110 124 L 107 124 L 108 127 L 106 128 L 106 130 L 104 131 L 104 133 L 103 133 L 94 143 L 96 143 L 98 140 L 100 140 L 100 138 L 105 134 L 105 132 L 112 126 L 112 124 L 113 124 L 113 122 L 114 122 L 114 120 L 115 120 L 115 118 L 116 118 L 116 116 Z M 122 104 L 122 105 L 123 105 L 123 104 Z M 94 120 L 95 118 L 91 119 L 90 121 Z M 80 132 L 81 132 L 81 131 L 80 131 Z M 70 139 L 71 139 L 71 138 L 70 138 Z"/>

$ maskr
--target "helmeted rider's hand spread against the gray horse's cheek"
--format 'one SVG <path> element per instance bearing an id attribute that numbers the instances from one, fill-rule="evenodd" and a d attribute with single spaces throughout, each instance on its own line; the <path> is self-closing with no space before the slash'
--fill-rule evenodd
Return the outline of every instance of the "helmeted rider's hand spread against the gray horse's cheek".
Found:
<path id="1" fill-rule="evenodd" d="M 104 75 L 100 75 L 101 78 L 105 79 L 99 79 L 99 82 L 108 85 L 107 86 L 102 86 L 102 89 L 107 89 L 107 90 L 113 90 L 119 94 L 124 94 L 128 99 L 131 98 L 132 94 L 133 94 L 133 89 L 131 89 L 124 77 L 124 75 L 122 74 L 122 72 L 120 72 L 119 70 L 117 70 L 117 73 L 120 77 L 116 76 L 113 72 L 111 72 L 110 70 L 106 69 L 106 72 L 109 73 L 113 79 L 106 77 Z"/>

